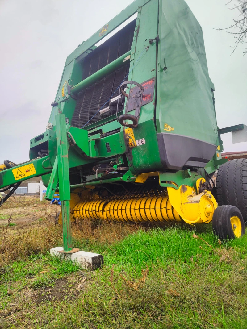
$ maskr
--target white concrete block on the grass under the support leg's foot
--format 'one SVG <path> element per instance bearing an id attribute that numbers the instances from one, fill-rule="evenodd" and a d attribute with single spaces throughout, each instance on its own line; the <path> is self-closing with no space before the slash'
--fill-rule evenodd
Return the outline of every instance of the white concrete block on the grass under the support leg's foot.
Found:
<path id="1" fill-rule="evenodd" d="M 100 254 L 95 254 L 93 252 L 87 251 L 77 251 L 72 254 L 62 254 L 58 251 L 63 250 L 63 247 L 55 247 L 50 249 L 50 254 L 60 259 L 72 260 L 73 262 L 78 262 L 83 268 L 89 270 L 95 270 L 100 268 L 104 264 L 103 256 Z"/>

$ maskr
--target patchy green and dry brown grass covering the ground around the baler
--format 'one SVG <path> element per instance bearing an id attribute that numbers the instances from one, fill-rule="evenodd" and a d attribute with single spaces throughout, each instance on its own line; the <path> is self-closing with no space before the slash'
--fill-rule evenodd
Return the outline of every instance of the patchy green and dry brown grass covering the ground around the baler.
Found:
<path id="1" fill-rule="evenodd" d="M 47 218 L 0 244 L 6 328 L 247 328 L 247 235 L 220 243 L 210 225 L 99 221 L 72 233 L 104 256 L 101 269 L 51 258 L 62 232 Z"/>

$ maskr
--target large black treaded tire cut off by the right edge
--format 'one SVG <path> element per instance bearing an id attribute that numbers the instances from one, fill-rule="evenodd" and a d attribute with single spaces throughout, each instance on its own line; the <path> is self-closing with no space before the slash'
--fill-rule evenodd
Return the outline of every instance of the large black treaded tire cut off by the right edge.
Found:
<path id="1" fill-rule="evenodd" d="M 247 224 L 247 159 L 235 159 L 219 167 L 216 178 L 219 206 L 237 207 Z"/>

